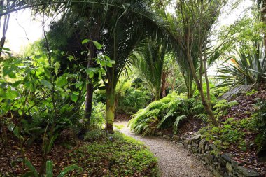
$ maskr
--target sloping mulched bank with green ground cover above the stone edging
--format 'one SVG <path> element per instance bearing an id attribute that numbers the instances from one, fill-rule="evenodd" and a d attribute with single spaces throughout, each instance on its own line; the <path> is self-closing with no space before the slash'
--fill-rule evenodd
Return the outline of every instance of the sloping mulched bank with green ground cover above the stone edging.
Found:
<path id="1" fill-rule="evenodd" d="M 265 155 L 263 122 L 263 103 L 265 101 L 265 90 L 241 94 L 235 101 L 225 109 L 225 114 L 219 115 L 221 125 L 219 127 L 206 126 L 200 132 L 207 141 L 214 143 L 218 151 L 227 152 L 232 159 L 265 174 L 266 165 L 263 162 Z M 231 101 L 232 103 L 232 101 Z M 260 151 L 261 150 L 261 151 Z M 258 154 L 261 153 L 261 154 Z"/>

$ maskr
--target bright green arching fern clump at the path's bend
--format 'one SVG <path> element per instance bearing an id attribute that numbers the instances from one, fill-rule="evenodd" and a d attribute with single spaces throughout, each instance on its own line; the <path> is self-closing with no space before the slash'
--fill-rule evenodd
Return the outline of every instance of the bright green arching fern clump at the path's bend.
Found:
<path id="1" fill-rule="evenodd" d="M 137 134 L 155 134 L 158 129 L 168 127 L 173 127 L 176 134 L 180 121 L 188 117 L 188 101 L 173 92 L 132 117 L 130 127 Z"/>

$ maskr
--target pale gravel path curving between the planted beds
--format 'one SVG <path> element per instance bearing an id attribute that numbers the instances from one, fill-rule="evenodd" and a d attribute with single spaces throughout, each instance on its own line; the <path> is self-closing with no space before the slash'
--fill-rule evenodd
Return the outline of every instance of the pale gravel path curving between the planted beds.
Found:
<path id="1" fill-rule="evenodd" d="M 124 125 L 120 132 L 134 139 L 143 141 L 148 148 L 158 157 L 161 177 L 189 176 L 189 177 L 211 177 L 211 172 L 181 144 L 173 143 L 160 137 L 142 137 L 130 132 L 128 122 L 116 122 L 115 125 Z"/>

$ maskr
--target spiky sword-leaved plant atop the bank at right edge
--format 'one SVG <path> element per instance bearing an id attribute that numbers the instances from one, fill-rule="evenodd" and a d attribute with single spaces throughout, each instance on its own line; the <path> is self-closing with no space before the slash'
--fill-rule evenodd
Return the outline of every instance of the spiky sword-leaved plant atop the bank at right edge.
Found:
<path id="1" fill-rule="evenodd" d="M 218 78 L 223 80 L 220 86 L 253 85 L 265 83 L 266 56 L 263 46 L 255 51 L 237 51 L 237 57 L 230 57 L 218 70 Z M 230 63 L 228 63 L 229 61 Z"/>

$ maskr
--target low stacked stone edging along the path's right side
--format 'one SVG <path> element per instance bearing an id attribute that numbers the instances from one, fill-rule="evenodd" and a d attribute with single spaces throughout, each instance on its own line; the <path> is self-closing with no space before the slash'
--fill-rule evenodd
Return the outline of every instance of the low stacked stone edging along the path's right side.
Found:
<path id="1" fill-rule="evenodd" d="M 233 160 L 228 153 L 212 153 L 217 152 L 216 146 L 202 139 L 201 135 L 196 135 L 190 139 L 181 138 L 177 135 L 171 137 L 163 135 L 162 132 L 159 132 L 158 135 L 176 143 L 182 143 L 216 177 L 260 177 L 260 174 L 253 169 L 247 169 L 243 164 Z"/>

